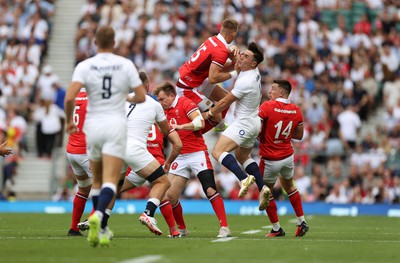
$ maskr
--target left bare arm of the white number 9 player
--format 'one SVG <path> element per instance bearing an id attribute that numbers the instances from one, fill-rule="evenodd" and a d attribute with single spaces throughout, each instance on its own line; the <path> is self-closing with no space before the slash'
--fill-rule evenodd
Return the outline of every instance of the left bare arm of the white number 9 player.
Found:
<path id="1" fill-rule="evenodd" d="M 78 128 L 76 127 L 75 123 L 72 120 L 72 116 L 74 114 L 74 108 L 75 108 L 75 97 L 78 95 L 82 87 L 83 87 L 82 83 L 73 81 L 70 84 L 65 94 L 65 100 L 64 100 L 65 124 L 66 124 L 65 129 L 69 134 L 78 131 Z"/>

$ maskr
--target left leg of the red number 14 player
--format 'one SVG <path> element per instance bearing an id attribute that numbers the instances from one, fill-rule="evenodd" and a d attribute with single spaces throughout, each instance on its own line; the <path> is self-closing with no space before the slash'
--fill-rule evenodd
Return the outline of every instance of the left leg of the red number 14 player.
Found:
<path id="1" fill-rule="evenodd" d="M 263 174 L 263 179 L 264 179 L 265 185 L 269 189 L 273 189 L 273 187 L 279 177 L 279 171 L 280 171 L 279 163 L 261 159 L 260 160 L 260 171 Z M 285 236 L 285 231 L 283 231 L 282 227 L 279 224 L 278 207 L 276 206 L 275 199 L 272 195 L 269 199 L 269 204 L 267 206 L 266 212 L 267 212 L 269 221 L 272 224 L 272 230 L 266 236 L 267 237 Z"/>

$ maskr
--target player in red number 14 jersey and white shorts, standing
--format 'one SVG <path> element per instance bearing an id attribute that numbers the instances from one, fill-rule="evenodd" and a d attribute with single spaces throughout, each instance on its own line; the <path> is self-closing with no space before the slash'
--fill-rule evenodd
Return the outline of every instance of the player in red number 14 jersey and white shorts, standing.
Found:
<path id="1" fill-rule="evenodd" d="M 300 108 L 288 100 L 292 85 L 287 80 L 274 80 L 269 91 L 270 101 L 264 102 L 259 109 L 263 123 L 260 139 L 260 170 L 264 183 L 273 189 L 278 177 L 289 196 L 290 203 L 297 216 L 295 236 L 304 236 L 309 227 L 304 219 L 301 197 L 293 182 L 294 161 L 291 139 L 303 138 L 303 116 Z M 272 230 L 268 237 L 284 236 L 285 231 L 280 227 L 277 206 L 271 196 L 267 209 Z"/>

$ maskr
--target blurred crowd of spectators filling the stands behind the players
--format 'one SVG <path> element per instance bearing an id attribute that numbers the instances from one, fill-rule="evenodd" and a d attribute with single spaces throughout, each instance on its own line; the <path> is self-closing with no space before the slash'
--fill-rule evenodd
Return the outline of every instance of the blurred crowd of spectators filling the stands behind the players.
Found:
<path id="1" fill-rule="evenodd" d="M 50 66 L 40 69 L 54 15 L 51 1 L 0 3 L 0 123 L 7 134 L 11 111 L 41 123 L 40 116 L 29 113 L 40 105 L 49 109 L 49 100 L 57 105 L 62 89 Z M 97 27 L 112 25 L 116 53 L 148 73 L 150 89 L 175 82 L 179 66 L 218 33 L 227 17 L 240 22 L 235 45 L 244 50 L 255 41 L 265 50 L 260 65 L 264 99 L 273 79 L 293 85 L 290 99 L 302 108 L 306 127 L 304 139 L 293 142 L 304 201 L 400 202 L 399 1 L 88 0 L 77 23 L 76 63 L 96 54 Z M 232 88 L 231 81 L 222 85 Z M 53 120 L 62 117 L 53 112 Z M 257 159 L 257 147 L 253 153 Z M 236 177 L 214 165 L 221 192 L 236 198 Z M 279 184 L 274 190 L 277 200 L 286 198 Z M 146 188 L 121 198 L 145 194 Z M 189 182 L 184 195 L 204 198 L 197 180 Z M 245 198 L 258 198 L 255 186 Z"/>

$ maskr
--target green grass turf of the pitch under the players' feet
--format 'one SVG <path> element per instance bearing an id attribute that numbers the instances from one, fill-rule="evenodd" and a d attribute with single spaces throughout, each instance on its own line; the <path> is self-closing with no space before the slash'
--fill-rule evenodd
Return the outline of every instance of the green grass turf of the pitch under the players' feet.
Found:
<path id="1" fill-rule="evenodd" d="M 139 224 L 139 215 L 112 215 L 108 248 L 67 237 L 70 214 L 0 214 L 0 262 L 400 262 L 400 219 L 309 216 L 310 231 L 294 237 L 294 216 L 280 217 L 286 236 L 266 238 L 264 216 L 228 215 L 233 239 L 218 240 L 213 215 L 186 215 L 190 236 L 169 239 Z M 217 242 L 220 241 L 220 242 Z"/>

